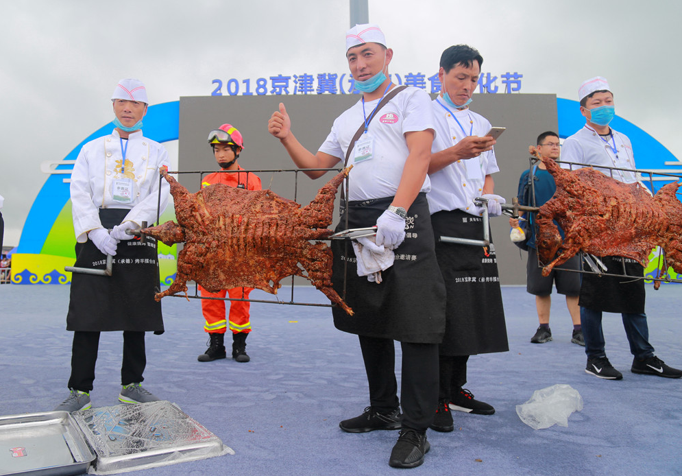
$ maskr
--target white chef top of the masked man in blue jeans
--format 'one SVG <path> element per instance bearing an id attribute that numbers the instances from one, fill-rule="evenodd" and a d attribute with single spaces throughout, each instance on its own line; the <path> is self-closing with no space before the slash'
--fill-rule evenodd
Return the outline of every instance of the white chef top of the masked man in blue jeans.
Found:
<path id="1" fill-rule="evenodd" d="M 605 141 L 597 132 L 587 124 L 568 137 L 561 146 L 561 160 L 565 162 L 576 162 L 579 164 L 592 165 L 595 169 L 610 176 L 609 169 L 602 167 L 618 167 L 621 169 L 635 169 L 635 156 L 632 151 L 630 139 L 625 134 L 611 129 L 613 138 Z M 616 152 L 613 152 L 613 146 Z M 580 166 L 573 165 L 573 169 Z M 624 170 L 614 170 L 613 178 L 624 183 L 637 182 L 634 172 Z"/>

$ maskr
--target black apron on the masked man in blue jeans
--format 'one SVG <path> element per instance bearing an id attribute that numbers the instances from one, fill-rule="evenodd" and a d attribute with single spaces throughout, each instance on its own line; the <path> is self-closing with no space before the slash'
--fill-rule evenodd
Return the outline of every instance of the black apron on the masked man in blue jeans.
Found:
<path id="1" fill-rule="evenodd" d="M 600 258 L 607 266 L 607 272 L 623 274 L 623 264 L 620 257 Z M 644 279 L 629 276 L 644 276 L 644 267 L 629 258 L 625 260 L 625 274 L 628 276 L 599 276 L 598 274 L 583 273 L 578 304 L 595 311 L 616 313 L 644 313 Z"/>

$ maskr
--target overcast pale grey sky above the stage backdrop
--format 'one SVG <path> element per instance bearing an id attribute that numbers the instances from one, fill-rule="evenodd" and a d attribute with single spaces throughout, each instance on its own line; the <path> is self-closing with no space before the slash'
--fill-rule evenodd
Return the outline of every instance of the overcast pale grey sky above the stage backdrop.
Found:
<path id="1" fill-rule="evenodd" d="M 467 43 L 483 55 L 484 72 L 522 73 L 521 93 L 577 99 L 581 82 L 601 75 L 613 90 L 616 114 L 682 159 L 679 0 L 368 2 L 369 21 L 380 25 L 394 51 L 390 72 L 428 77 L 443 49 Z M 143 80 L 150 104 L 160 104 L 210 95 L 217 78 L 348 73 L 349 3 L 3 1 L 4 244 L 19 244 L 47 180 L 40 163 L 64 158 L 114 118 L 110 96 L 121 78 Z M 263 121 L 267 140 L 268 118 L 251 119 Z M 177 160 L 177 142 L 167 148 Z M 635 159 L 642 154 L 635 150 Z"/>

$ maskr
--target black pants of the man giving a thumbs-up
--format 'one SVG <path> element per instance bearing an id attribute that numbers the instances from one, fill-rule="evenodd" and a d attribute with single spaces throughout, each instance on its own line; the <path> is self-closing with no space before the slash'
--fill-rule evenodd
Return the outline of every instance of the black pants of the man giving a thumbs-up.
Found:
<path id="1" fill-rule="evenodd" d="M 401 342 L 402 383 L 398 401 L 393 340 L 358 337 L 369 383 L 369 404 L 386 413 L 402 403 L 402 426 L 426 431 L 438 405 L 438 344 Z"/>

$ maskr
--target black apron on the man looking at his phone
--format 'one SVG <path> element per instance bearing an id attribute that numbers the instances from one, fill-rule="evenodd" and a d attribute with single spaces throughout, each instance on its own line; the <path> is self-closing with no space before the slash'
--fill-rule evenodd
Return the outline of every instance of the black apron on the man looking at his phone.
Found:
<path id="1" fill-rule="evenodd" d="M 461 210 L 434 213 L 431 223 L 436 240 L 441 236 L 483 239 L 483 218 Z M 483 246 L 436 242 L 436 257 L 448 291 L 441 355 L 509 350 L 494 249 L 491 245 L 486 255 Z"/>

